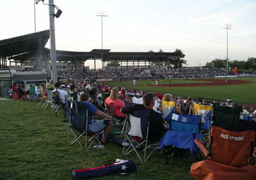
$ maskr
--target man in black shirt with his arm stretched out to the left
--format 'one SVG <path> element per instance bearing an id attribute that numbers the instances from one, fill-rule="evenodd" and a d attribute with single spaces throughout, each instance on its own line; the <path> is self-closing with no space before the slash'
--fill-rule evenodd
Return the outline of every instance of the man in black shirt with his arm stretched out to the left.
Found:
<path id="1" fill-rule="evenodd" d="M 143 95 L 143 105 L 142 104 L 131 104 L 125 105 L 121 108 L 123 114 L 133 113 L 133 111 L 140 111 L 145 109 L 150 109 L 150 130 L 148 134 L 148 139 L 151 143 L 157 142 L 164 136 L 166 129 L 164 128 L 162 115 L 153 110 L 155 105 L 155 99 L 153 93 L 146 93 Z"/>

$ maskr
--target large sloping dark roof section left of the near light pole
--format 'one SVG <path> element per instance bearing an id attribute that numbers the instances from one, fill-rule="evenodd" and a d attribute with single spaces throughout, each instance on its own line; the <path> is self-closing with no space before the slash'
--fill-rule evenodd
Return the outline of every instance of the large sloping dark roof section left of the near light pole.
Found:
<path id="1" fill-rule="evenodd" d="M 40 37 L 41 44 L 39 44 Z M 49 38 L 49 30 L 44 30 L 42 32 L 0 40 L 0 56 L 2 58 L 10 57 L 11 59 L 20 61 L 27 60 L 35 56 L 39 46 L 44 47 Z"/>

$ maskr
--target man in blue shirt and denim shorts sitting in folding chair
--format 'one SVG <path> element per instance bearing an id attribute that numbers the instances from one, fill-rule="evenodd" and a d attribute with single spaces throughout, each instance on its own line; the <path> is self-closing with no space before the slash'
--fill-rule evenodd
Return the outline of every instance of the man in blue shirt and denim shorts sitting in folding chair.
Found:
<path id="1" fill-rule="evenodd" d="M 84 102 L 88 105 L 88 129 L 90 130 L 90 132 L 93 133 L 99 132 L 100 130 L 104 129 L 101 143 L 105 144 L 106 137 L 108 136 L 108 133 L 112 127 L 113 122 L 107 121 L 108 123 L 106 124 L 104 120 L 112 120 L 113 118 L 111 116 L 108 116 L 107 114 L 104 114 L 104 112 L 100 111 L 92 103 L 90 103 L 88 94 L 83 93 L 82 95 L 80 95 L 79 100 L 80 102 Z M 100 116 L 101 118 L 104 118 L 104 120 L 98 120 L 96 122 L 93 122 L 92 119 L 94 114 Z"/>

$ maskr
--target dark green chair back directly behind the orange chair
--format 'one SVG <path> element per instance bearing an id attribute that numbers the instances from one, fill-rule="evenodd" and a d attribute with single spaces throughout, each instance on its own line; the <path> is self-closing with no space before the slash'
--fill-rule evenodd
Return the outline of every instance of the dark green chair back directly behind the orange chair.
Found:
<path id="1" fill-rule="evenodd" d="M 214 103 L 213 126 L 218 126 L 224 130 L 234 131 L 236 122 L 241 117 L 241 106 L 225 107 Z"/>

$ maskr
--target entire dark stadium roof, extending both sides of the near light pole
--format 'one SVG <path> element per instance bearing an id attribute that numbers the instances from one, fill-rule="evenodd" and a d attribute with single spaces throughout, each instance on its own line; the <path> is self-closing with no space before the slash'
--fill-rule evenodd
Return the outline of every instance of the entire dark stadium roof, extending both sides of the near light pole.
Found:
<path id="1" fill-rule="evenodd" d="M 40 39 L 41 37 L 41 39 Z M 36 58 L 38 50 L 48 55 L 50 50 L 44 48 L 50 38 L 49 30 L 0 40 L 0 58 L 10 58 L 19 61 Z M 39 43 L 41 41 L 41 43 Z M 118 60 L 118 61 L 162 61 L 177 58 L 177 52 L 110 52 L 110 49 L 93 49 L 90 52 L 74 52 L 56 50 L 57 61 L 86 61 L 88 59 Z"/>

